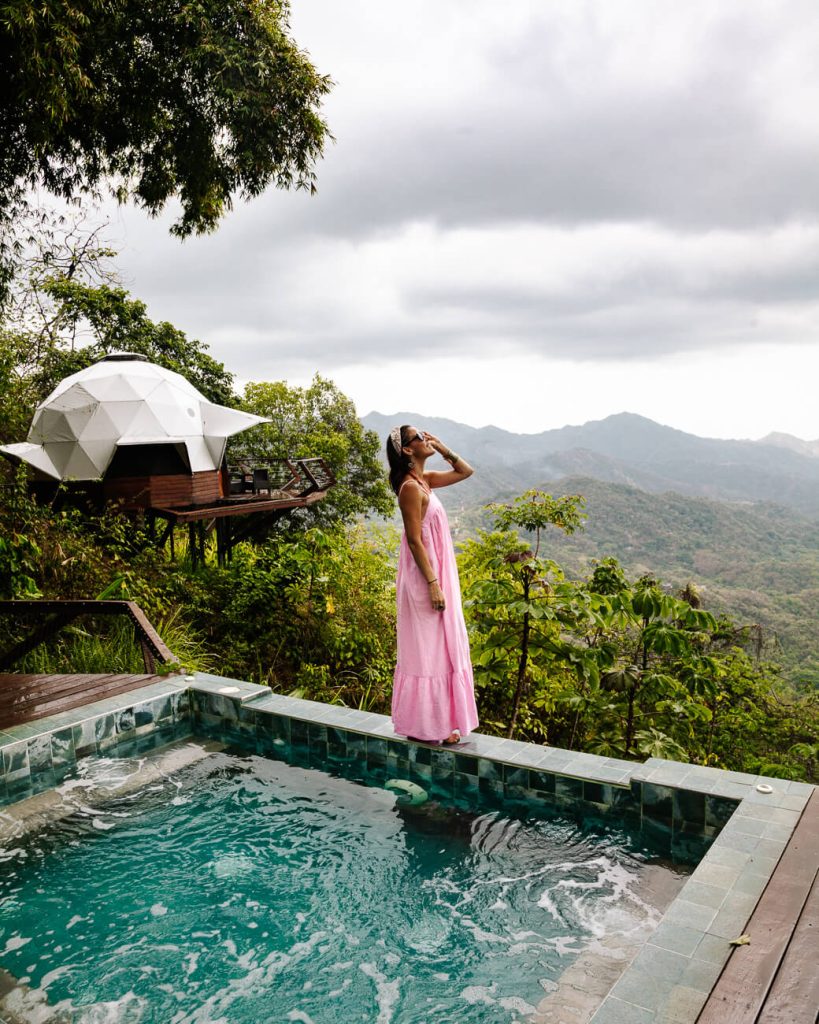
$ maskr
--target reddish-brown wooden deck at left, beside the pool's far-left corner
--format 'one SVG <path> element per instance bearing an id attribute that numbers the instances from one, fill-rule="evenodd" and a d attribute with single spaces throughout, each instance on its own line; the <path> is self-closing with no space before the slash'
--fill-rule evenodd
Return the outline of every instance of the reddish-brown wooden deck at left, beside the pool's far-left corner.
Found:
<path id="1" fill-rule="evenodd" d="M 0 674 L 0 729 L 25 725 L 38 718 L 58 715 L 125 693 L 140 686 L 161 682 L 157 675 L 64 675 L 31 676 Z"/>

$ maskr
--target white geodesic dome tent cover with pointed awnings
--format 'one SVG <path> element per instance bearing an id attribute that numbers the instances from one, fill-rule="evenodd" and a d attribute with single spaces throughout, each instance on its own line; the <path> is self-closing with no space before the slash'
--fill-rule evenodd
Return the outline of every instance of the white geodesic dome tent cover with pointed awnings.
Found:
<path id="1" fill-rule="evenodd" d="M 54 480 L 99 480 L 118 453 L 146 445 L 160 463 L 172 449 L 182 472 L 213 472 L 228 437 L 264 422 L 208 401 L 143 355 L 114 353 L 61 381 L 38 406 L 29 439 L 0 453 Z"/>

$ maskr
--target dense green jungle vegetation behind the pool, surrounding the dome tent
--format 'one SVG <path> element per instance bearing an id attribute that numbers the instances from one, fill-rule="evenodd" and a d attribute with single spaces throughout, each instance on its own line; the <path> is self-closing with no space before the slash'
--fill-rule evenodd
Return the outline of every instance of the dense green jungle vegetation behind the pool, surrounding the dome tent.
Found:
<path id="1" fill-rule="evenodd" d="M 229 564 L 212 556 L 195 569 L 183 541 L 172 561 L 116 508 L 89 517 L 35 504 L 25 471 L 4 464 L 0 597 L 128 597 L 185 668 L 388 713 L 397 530 L 384 521 L 393 508 L 379 438 L 349 399 L 320 376 L 307 388 L 258 383 L 235 395 L 204 345 L 153 324 L 113 285 L 52 276 L 34 287 L 61 328 L 3 322 L 4 439 L 25 436 L 21 421 L 66 369 L 107 344 L 133 344 L 268 416 L 243 441 L 246 457 L 321 455 L 339 485 L 332 501 L 240 545 Z M 77 345 L 77 328 L 86 345 Z M 483 730 L 608 756 L 817 778 L 817 692 L 788 683 L 748 625 L 703 606 L 695 586 L 629 574 L 614 557 L 569 573 L 549 555 L 556 538 L 583 536 L 578 495 L 533 489 L 484 514 L 486 528 L 459 555 Z M 93 624 L 63 631 L 17 668 L 138 671 L 137 662 L 127 637 Z"/>

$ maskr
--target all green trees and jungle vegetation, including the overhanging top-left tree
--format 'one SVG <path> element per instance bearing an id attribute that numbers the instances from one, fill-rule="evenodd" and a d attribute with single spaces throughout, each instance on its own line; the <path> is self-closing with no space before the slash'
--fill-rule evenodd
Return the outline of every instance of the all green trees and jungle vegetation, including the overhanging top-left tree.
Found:
<path id="1" fill-rule="evenodd" d="M 0 438 L 21 440 L 67 374 L 132 349 L 213 400 L 269 417 L 246 439 L 248 458 L 320 455 L 339 481 L 227 565 L 193 568 L 183 543 L 171 560 L 116 507 L 89 516 L 36 504 L 25 470 L 3 463 L 0 598 L 128 597 L 184 668 L 387 712 L 397 538 L 382 518 L 391 499 L 378 435 L 320 376 L 235 394 L 204 344 L 150 321 L 120 286 L 95 231 L 29 203 L 33 186 L 67 201 L 111 187 L 150 213 L 175 198 L 183 237 L 270 183 L 311 188 L 330 82 L 290 39 L 287 12 L 267 0 L 0 2 L 10 143 L 0 155 Z M 816 691 L 783 680 L 743 623 L 701 606 L 692 587 L 607 556 L 570 575 L 545 542 L 581 535 L 584 515 L 579 496 L 529 490 L 488 509 L 463 545 L 483 729 L 816 780 Z M 17 669 L 128 671 L 136 657 L 126 635 L 91 623 Z"/>

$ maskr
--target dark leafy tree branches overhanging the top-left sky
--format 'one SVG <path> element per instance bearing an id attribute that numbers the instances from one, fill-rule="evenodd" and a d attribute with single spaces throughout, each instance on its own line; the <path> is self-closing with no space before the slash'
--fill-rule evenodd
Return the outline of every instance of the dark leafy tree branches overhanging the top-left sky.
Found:
<path id="1" fill-rule="evenodd" d="M 212 230 L 233 197 L 313 188 L 330 80 L 289 38 L 286 0 L 3 0 L 0 216 L 38 184 L 103 180 L 173 231 Z"/>

